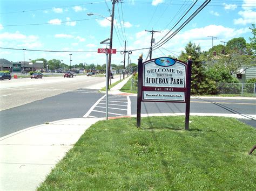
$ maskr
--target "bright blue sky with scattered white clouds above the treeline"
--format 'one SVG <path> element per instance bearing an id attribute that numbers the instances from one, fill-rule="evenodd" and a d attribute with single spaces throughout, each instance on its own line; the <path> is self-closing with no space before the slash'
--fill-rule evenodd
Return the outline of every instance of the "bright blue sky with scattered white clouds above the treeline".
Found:
<path id="1" fill-rule="evenodd" d="M 124 54 L 120 51 L 124 51 L 125 41 L 126 51 L 131 51 L 131 63 L 138 62 L 139 54 L 143 54 L 144 61 L 149 60 L 152 32 L 145 30 L 157 31 L 153 33 L 156 49 L 153 48 L 152 58 L 168 55 L 177 58 L 190 41 L 202 51 L 210 49 L 212 44 L 224 45 L 223 42 L 232 38 L 244 37 L 250 42 L 249 28 L 256 21 L 256 1 L 212 0 L 176 35 L 160 44 L 161 39 L 173 34 L 204 2 L 119 0 L 114 6 L 112 48 L 117 53 L 112 54 L 112 63 L 123 65 Z M 90 12 L 94 15 L 88 16 Z M 110 38 L 111 12 L 110 0 L 1 0 L 0 58 L 13 62 L 44 58 L 62 60 L 67 65 L 70 60 L 71 65 L 103 65 L 106 55 L 98 54 L 97 49 L 105 48 L 100 41 Z M 126 64 L 127 61 L 128 54 Z"/>

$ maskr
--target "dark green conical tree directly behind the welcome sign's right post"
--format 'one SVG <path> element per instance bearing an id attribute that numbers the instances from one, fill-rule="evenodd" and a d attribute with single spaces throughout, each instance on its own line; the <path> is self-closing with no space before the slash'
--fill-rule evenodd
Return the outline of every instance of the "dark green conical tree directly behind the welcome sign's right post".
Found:
<path id="1" fill-rule="evenodd" d="M 201 60 L 201 48 L 189 42 L 185 51 L 181 51 L 179 60 L 187 62 L 188 56 L 192 56 L 191 93 L 210 94 L 215 89 L 214 82 L 207 78 L 205 68 Z"/>

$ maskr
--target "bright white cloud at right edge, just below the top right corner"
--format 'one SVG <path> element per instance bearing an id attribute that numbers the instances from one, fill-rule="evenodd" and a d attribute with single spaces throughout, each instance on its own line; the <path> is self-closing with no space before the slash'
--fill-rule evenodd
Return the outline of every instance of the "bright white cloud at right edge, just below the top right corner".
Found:
<path id="1" fill-rule="evenodd" d="M 256 23 L 256 11 L 252 10 L 245 10 L 245 11 L 239 11 L 238 14 L 241 16 L 241 18 L 234 19 L 234 24 L 250 24 L 250 23 Z"/>

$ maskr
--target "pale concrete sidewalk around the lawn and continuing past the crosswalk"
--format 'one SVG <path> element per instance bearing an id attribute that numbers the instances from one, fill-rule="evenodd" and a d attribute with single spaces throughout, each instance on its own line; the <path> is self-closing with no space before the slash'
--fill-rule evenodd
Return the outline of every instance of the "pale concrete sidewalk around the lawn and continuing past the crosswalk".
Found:
<path id="1" fill-rule="evenodd" d="M 114 86 L 110 94 L 126 94 L 121 89 L 131 76 Z M 136 95 L 136 94 L 135 94 Z M 212 97 L 211 97 L 212 98 Z M 150 114 L 143 116 L 184 114 Z M 191 114 L 225 116 L 230 114 Z M 256 117 L 256 116 L 255 116 Z M 73 147 L 86 129 L 105 118 L 74 118 L 24 129 L 0 138 L 0 190 L 36 190 L 57 162 Z"/>

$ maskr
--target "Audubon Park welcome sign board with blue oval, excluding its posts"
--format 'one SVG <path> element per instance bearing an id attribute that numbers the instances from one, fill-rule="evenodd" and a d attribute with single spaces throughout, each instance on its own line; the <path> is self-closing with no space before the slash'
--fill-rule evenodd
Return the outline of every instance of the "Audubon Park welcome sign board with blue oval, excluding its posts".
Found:
<path id="1" fill-rule="evenodd" d="M 185 102 L 187 65 L 161 57 L 143 63 L 142 101 Z"/>

